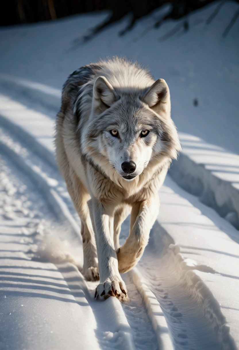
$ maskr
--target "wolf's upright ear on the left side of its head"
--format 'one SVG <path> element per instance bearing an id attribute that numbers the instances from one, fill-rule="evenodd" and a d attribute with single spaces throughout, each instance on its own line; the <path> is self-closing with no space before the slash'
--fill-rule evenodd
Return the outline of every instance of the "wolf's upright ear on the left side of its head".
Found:
<path id="1" fill-rule="evenodd" d="M 98 77 L 93 87 L 93 107 L 102 113 L 117 100 L 113 86 L 105 77 Z"/>

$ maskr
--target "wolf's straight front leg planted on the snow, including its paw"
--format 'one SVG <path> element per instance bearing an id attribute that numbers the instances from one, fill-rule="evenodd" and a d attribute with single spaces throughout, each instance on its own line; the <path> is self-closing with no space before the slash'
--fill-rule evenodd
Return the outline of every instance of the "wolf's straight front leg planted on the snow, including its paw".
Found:
<path id="1" fill-rule="evenodd" d="M 93 200 L 96 246 L 99 261 L 100 284 L 96 287 L 96 299 L 116 296 L 119 300 L 128 298 L 125 283 L 118 271 L 118 260 L 114 249 L 114 210 Z"/>

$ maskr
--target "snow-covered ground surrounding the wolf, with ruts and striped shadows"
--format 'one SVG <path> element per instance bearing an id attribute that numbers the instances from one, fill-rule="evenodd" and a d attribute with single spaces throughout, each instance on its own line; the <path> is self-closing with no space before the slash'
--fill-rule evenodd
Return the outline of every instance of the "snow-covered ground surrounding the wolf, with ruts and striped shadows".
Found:
<path id="1" fill-rule="evenodd" d="M 230 224 L 237 226 L 239 212 L 239 23 L 222 38 L 238 4 L 226 2 L 206 25 L 216 5 L 190 15 L 187 33 L 162 42 L 157 39 L 176 23 L 147 31 L 159 11 L 124 37 L 117 32 L 126 19 L 76 47 L 73 40 L 107 13 L 1 28 L 0 349 L 239 347 L 239 232 Z M 165 78 L 191 161 L 173 166 L 173 178 L 196 195 L 198 186 L 204 197 L 208 188 L 204 203 L 219 193 L 214 207 L 227 219 L 167 176 L 149 245 L 137 267 L 122 275 L 130 296 L 125 304 L 114 297 L 95 302 L 96 284 L 80 273 L 79 219 L 52 143 L 66 76 L 114 54 L 138 59 Z M 128 228 L 129 218 L 121 242 Z"/>

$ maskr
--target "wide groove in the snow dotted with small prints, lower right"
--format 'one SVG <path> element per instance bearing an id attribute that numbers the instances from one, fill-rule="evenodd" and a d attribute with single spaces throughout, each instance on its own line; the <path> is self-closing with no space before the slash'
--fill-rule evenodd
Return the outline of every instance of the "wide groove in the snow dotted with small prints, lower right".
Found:
<path id="1" fill-rule="evenodd" d="M 139 269 L 160 303 L 175 349 L 223 349 L 217 341 L 219 325 L 212 311 L 204 308 L 203 298 L 193 293 L 186 279 L 178 278 L 169 254 L 161 257 L 152 247 L 145 253 Z"/>

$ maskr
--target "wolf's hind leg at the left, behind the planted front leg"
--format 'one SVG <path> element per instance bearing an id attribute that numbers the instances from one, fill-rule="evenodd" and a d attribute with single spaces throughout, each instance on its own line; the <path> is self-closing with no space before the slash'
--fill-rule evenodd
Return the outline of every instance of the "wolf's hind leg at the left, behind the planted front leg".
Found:
<path id="1" fill-rule="evenodd" d="M 83 242 L 84 265 L 83 273 L 87 280 L 99 280 L 98 258 L 95 243 L 95 235 L 90 219 L 90 212 L 87 201 L 90 199 L 88 192 L 80 179 L 71 172 L 71 181 L 67 181 L 67 189 L 71 195 L 74 207 L 81 219 L 81 236 Z"/>

